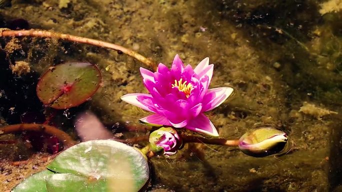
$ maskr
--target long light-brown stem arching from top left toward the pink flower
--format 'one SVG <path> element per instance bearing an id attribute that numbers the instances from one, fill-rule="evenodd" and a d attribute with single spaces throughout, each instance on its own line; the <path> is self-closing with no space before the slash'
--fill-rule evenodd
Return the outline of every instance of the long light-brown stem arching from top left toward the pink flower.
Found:
<path id="1" fill-rule="evenodd" d="M 90 38 L 79 37 L 79 36 L 75 36 L 75 35 L 57 33 L 57 32 L 46 31 L 46 30 L 37 30 L 37 29 L 9 30 L 6 28 L 0 29 L 0 36 L 48 37 L 48 38 L 57 38 L 57 39 L 63 39 L 63 40 L 78 42 L 78 43 L 85 43 L 85 44 L 99 46 L 99 47 L 105 47 L 105 48 L 121 51 L 122 53 L 127 54 L 127 55 L 141 61 L 142 63 L 144 63 L 148 67 L 155 69 L 155 64 L 151 60 L 140 55 L 139 53 L 137 53 L 131 49 L 125 48 L 123 46 L 117 45 L 117 44 L 108 43 L 108 42 L 100 41 L 100 40 L 96 40 L 96 39 L 90 39 Z"/>

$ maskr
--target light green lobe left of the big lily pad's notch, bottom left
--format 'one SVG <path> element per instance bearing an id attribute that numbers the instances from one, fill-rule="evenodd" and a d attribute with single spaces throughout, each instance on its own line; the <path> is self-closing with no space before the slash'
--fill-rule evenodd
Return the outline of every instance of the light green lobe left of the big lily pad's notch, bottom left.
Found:
<path id="1" fill-rule="evenodd" d="M 53 175 L 53 172 L 44 170 L 24 179 L 11 192 L 47 192 L 44 177 Z"/>

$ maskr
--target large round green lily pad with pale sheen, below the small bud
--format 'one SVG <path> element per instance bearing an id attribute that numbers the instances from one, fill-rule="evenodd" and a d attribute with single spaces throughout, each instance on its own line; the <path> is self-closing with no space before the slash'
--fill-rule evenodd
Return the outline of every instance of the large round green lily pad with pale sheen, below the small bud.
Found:
<path id="1" fill-rule="evenodd" d="M 84 188 L 93 188 L 92 192 L 102 192 L 100 189 L 104 188 L 115 189 L 109 190 L 111 192 L 119 192 L 120 189 L 137 192 L 149 177 L 147 158 L 143 154 L 128 145 L 111 140 L 87 141 L 72 146 L 61 152 L 47 169 L 64 174 L 49 177 L 47 182 L 53 183 L 52 180 L 58 179 L 60 188 L 71 189 L 70 181 L 74 179 L 75 183 L 86 186 Z M 68 179 L 63 182 L 60 178 Z"/>

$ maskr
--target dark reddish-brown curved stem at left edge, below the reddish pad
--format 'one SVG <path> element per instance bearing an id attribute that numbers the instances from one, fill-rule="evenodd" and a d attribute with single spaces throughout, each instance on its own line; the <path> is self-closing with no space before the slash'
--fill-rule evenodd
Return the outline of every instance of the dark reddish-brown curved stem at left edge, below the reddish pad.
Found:
<path id="1" fill-rule="evenodd" d="M 0 135 L 1 134 L 9 134 L 15 132 L 22 132 L 22 131 L 37 131 L 37 132 L 44 132 L 48 135 L 56 136 L 57 139 L 63 143 L 65 147 L 71 147 L 75 145 L 77 142 L 72 140 L 72 138 L 65 132 L 60 129 L 57 129 L 50 125 L 43 125 L 43 124 L 15 124 L 15 125 L 8 125 L 6 127 L 0 128 Z"/>

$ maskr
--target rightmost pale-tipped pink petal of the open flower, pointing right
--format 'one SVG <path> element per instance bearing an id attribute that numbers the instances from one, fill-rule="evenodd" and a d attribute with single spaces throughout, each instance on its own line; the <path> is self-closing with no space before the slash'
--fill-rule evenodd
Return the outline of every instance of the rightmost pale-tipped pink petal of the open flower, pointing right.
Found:
<path id="1" fill-rule="evenodd" d="M 232 92 L 233 88 L 231 87 L 218 87 L 214 89 L 208 89 L 202 101 L 204 105 L 202 111 L 210 111 L 219 106 L 229 97 Z"/>

